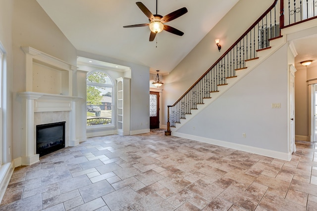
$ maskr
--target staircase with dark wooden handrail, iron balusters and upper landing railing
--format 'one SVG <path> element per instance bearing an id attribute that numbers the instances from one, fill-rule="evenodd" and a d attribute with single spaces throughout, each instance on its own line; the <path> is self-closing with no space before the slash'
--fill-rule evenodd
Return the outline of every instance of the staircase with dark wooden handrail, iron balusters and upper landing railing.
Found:
<path id="1" fill-rule="evenodd" d="M 306 11 L 303 10 L 305 8 Z M 307 8 L 312 8 L 313 13 L 308 14 Z M 286 36 L 283 36 L 281 29 L 315 19 L 315 8 L 315 0 L 274 0 L 264 14 L 195 84 L 173 105 L 167 106 L 165 135 L 171 135 L 185 125 L 284 45 Z"/>

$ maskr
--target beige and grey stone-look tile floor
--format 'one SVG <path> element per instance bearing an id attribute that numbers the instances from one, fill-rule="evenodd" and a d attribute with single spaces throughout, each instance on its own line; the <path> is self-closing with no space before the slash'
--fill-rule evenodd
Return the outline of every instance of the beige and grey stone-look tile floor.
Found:
<path id="1" fill-rule="evenodd" d="M 317 145 L 290 162 L 163 131 L 89 138 L 14 170 L 0 211 L 316 211 Z"/>

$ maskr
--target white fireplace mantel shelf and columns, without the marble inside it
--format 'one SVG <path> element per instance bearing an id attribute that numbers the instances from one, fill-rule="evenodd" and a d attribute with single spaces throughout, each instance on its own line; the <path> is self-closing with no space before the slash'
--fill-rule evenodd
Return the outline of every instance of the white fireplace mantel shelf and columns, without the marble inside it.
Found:
<path id="1" fill-rule="evenodd" d="M 82 97 L 31 91 L 19 92 L 18 95 L 22 98 L 22 108 L 25 109 L 22 111 L 24 135 L 21 140 L 21 165 L 31 165 L 39 161 L 35 143 L 34 115 L 36 112 L 69 112 L 69 140 L 65 142 L 65 147 L 79 144 L 79 140 L 76 139 L 76 101 Z"/>

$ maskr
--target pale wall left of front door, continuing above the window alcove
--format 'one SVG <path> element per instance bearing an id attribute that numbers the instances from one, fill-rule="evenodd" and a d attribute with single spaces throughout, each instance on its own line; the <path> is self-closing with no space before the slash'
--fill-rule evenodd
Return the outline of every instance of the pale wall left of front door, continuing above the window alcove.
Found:
<path id="1" fill-rule="evenodd" d="M 96 59 L 108 63 L 123 65 L 131 68 L 131 110 L 130 134 L 150 131 L 150 68 L 131 62 L 121 61 L 106 56 L 78 51 L 78 56 Z"/>

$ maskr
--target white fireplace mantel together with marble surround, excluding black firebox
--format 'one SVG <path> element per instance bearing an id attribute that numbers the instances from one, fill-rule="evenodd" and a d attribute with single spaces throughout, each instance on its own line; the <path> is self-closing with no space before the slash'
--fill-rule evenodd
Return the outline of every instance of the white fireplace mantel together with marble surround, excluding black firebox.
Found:
<path id="1" fill-rule="evenodd" d="M 39 162 L 36 154 L 36 125 L 65 121 L 65 147 L 76 146 L 76 101 L 81 97 L 19 92 L 22 98 L 23 134 L 21 165 Z"/>

